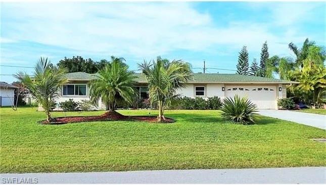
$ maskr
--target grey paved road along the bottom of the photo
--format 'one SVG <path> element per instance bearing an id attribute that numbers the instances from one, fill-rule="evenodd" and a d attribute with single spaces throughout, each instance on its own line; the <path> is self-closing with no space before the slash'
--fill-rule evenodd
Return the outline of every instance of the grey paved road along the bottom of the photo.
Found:
<path id="1" fill-rule="evenodd" d="M 1 174 L 38 183 L 326 183 L 326 167 Z"/>

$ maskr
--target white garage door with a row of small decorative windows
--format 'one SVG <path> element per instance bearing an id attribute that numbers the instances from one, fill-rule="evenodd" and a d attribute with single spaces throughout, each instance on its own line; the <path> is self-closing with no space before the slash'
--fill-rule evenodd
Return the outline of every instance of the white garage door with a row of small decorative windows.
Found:
<path id="1" fill-rule="evenodd" d="M 276 85 L 226 85 L 226 97 L 247 97 L 258 109 L 276 109 Z"/>

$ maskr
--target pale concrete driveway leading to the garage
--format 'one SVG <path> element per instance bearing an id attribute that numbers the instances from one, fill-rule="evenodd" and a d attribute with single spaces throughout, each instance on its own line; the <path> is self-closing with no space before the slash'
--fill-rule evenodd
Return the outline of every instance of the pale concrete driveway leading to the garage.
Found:
<path id="1" fill-rule="evenodd" d="M 259 110 L 261 115 L 326 129 L 326 116 L 287 110 Z"/>

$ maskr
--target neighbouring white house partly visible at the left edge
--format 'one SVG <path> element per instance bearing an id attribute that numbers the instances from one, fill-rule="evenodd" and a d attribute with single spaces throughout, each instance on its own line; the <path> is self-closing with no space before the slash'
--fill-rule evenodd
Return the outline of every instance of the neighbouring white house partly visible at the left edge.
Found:
<path id="1" fill-rule="evenodd" d="M 18 87 L 8 84 L 4 81 L 0 82 L 0 107 L 14 105 L 15 90 Z"/>

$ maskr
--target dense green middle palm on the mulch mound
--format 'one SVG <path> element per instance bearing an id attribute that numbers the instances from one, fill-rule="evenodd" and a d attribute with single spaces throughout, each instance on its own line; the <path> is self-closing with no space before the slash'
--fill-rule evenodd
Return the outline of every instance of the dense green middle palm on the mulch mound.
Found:
<path id="1" fill-rule="evenodd" d="M 134 73 L 128 71 L 128 66 L 121 60 L 115 59 L 105 65 L 97 74 L 95 80 L 90 81 L 90 97 L 93 102 L 102 102 L 106 105 L 106 110 L 113 112 L 116 97 L 121 96 L 128 103 L 132 103 L 135 90 L 133 88 L 136 81 Z"/>

